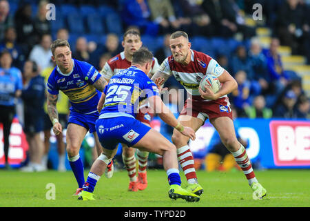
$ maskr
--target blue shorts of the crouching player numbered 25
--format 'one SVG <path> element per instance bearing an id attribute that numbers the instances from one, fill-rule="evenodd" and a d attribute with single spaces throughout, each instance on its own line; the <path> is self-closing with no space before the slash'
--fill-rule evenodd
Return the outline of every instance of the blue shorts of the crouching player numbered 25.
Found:
<path id="1" fill-rule="evenodd" d="M 114 150 L 119 143 L 134 146 L 151 128 L 132 117 L 97 119 L 96 131 L 103 148 Z"/>

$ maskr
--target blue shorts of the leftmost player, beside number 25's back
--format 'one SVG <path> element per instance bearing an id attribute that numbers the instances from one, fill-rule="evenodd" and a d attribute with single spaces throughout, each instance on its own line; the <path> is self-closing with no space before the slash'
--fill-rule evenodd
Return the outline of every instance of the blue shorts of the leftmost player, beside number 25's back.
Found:
<path id="1" fill-rule="evenodd" d="M 95 124 L 96 119 L 98 119 L 99 113 L 96 111 L 95 113 L 91 113 L 89 115 L 85 115 L 83 113 L 77 113 L 75 111 L 70 111 L 70 116 L 68 119 L 68 124 L 79 124 L 80 126 L 83 126 L 88 130 L 90 130 L 90 133 L 96 132 Z"/>

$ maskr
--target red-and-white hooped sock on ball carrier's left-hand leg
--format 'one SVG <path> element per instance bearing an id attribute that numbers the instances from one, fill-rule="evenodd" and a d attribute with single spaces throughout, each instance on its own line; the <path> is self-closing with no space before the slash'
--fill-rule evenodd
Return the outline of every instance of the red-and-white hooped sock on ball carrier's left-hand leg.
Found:
<path id="1" fill-rule="evenodd" d="M 197 176 L 194 167 L 194 157 L 192 152 L 189 150 L 189 146 L 182 146 L 176 149 L 176 153 L 178 154 L 178 162 L 182 167 L 187 182 L 189 184 L 197 183 Z"/>

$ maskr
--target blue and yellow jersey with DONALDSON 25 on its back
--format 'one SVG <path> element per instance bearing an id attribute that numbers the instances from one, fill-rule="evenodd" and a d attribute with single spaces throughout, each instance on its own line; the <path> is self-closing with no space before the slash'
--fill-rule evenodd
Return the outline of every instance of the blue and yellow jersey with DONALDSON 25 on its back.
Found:
<path id="1" fill-rule="evenodd" d="M 141 100 L 158 95 L 158 88 L 142 70 L 132 66 L 116 73 L 103 93 L 106 96 L 101 118 L 125 115 L 136 117 Z"/>

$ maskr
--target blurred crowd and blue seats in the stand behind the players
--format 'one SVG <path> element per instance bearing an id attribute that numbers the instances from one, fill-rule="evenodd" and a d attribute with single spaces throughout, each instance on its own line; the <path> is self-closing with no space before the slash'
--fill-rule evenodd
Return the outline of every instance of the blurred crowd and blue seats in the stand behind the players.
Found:
<path id="1" fill-rule="evenodd" d="M 55 6 L 56 20 L 47 19 L 52 13 L 49 3 Z M 255 3 L 262 6 L 263 22 L 251 26 L 246 18 L 253 15 Z M 293 55 L 306 57 L 310 64 L 309 16 L 307 0 L 0 0 L 0 110 L 7 114 L 0 118 L 4 137 L 16 113 L 14 106 L 21 103 L 16 100 L 22 100 L 19 116 L 29 142 L 45 146 L 32 162 L 46 158 L 51 124 L 44 82 L 55 66 L 52 41 L 68 39 L 73 58 L 101 70 L 123 50 L 121 36 L 130 27 L 140 30 L 145 44 L 152 37 L 146 45 L 152 47 L 160 64 L 171 55 L 169 35 L 175 30 L 184 30 L 190 39 L 204 39 L 200 45 L 193 41 L 192 48 L 214 57 L 238 81 L 238 89 L 229 95 L 238 117 L 309 118 L 309 97 L 302 90 L 302 79 L 285 70 L 278 52 L 279 46 L 289 46 Z M 268 48 L 262 48 L 256 38 L 258 27 L 272 31 Z M 216 39 L 227 43 L 236 38 L 233 42 L 239 44 L 231 51 L 220 44 L 212 48 Z M 180 88 L 176 81 L 167 81 L 167 86 Z M 65 126 L 68 99 L 61 96 L 58 105 Z M 38 121 L 40 116 L 42 121 Z M 41 131 L 45 131 L 45 145 L 38 138 Z M 58 141 L 63 159 L 61 137 Z"/>

